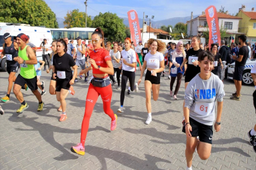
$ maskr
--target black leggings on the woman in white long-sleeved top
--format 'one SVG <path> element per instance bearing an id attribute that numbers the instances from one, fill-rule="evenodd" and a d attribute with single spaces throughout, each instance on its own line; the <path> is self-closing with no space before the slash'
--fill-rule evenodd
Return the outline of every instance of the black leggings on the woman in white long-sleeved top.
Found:
<path id="1" fill-rule="evenodd" d="M 123 101 L 125 100 L 125 89 L 126 89 L 126 83 L 129 79 L 131 91 L 134 90 L 134 84 L 135 84 L 135 72 L 134 71 L 124 71 L 122 74 L 122 82 L 121 82 L 121 94 L 120 94 L 120 103 L 121 106 L 123 106 Z"/>

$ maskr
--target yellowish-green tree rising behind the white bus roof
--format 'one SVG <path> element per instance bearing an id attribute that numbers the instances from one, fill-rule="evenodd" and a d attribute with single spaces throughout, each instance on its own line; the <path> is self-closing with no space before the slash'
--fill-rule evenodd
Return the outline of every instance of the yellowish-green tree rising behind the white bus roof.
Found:
<path id="1" fill-rule="evenodd" d="M 65 28 L 85 27 L 85 13 L 79 12 L 79 9 L 68 11 L 64 19 L 63 23 L 66 25 Z M 90 27 L 91 25 L 91 16 L 87 15 L 87 27 Z"/>

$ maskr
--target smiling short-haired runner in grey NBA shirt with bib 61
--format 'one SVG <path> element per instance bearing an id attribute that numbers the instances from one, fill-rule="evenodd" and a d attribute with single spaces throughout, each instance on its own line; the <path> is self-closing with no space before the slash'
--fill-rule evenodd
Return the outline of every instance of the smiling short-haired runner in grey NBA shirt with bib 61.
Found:
<path id="1" fill-rule="evenodd" d="M 214 124 L 216 132 L 221 129 L 221 113 L 225 93 L 222 81 L 211 73 L 214 67 L 213 62 L 214 56 L 209 51 L 200 53 L 198 56 L 200 73 L 189 82 L 185 90 L 185 106 L 183 108 L 185 123 L 182 131 L 186 133 L 187 170 L 192 169 L 195 148 L 197 148 L 200 159 L 209 158 L 212 149 L 212 125 Z M 217 118 L 214 123 L 216 100 Z"/>

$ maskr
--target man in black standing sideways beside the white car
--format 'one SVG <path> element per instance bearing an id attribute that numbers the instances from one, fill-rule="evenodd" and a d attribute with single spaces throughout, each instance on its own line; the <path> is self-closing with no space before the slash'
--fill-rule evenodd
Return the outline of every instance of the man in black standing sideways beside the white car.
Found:
<path id="1" fill-rule="evenodd" d="M 238 37 L 241 48 L 238 52 L 238 56 L 233 55 L 233 59 L 236 60 L 235 72 L 233 75 L 233 80 L 236 86 L 236 92 L 233 93 L 233 97 L 230 99 L 240 101 L 240 92 L 241 92 L 241 79 L 243 75 L 243 70 L 245 69 L 245 63 L 247 62 L 248 57 L 248 47 L 245 45 L 247 37 L 245 35 L 240 35 Z"/>

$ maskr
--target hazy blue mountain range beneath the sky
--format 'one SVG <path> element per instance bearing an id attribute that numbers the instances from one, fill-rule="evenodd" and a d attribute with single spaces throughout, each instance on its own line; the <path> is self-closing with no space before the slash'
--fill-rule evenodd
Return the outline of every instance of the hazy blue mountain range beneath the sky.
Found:
<path id="1" fill-rule="evenodd" d="M 197 18 L 198 15 L 193 16 L 193 18 Z M 168 26 L 168 25 L 176 25 L 176 23 L 186 23 L 186 21 L 189 21 L 191 18 L 191 16 L 185 16 L 185 17 L 174 17 L 174 18 L 169 18 L 166 20 L 160 20 L 160 21 L 154 21 L 151 20 L 151 26 L 153 28 L 160 28 L 162 25 Z M 129 21 L 128 18 L 121 18 L 123 19 L 123 23 L 126 26 L 129 26 Z M 92 20 L 94 20 L 94 16 L 92 16 Z M 64 19 L 63 18 L 57 18 L 57 22 L 59 24 L 59 28 L 64 28 L 64 24 L 63 24 Z M 139 18 L 139 22 L 140 22 L 140 28 L 142 28 L 143 25 L 143 19 Z M 149 20 L 145 19 L 145 22 L 147 22 L 147 25 L 149 25 Z"/>

